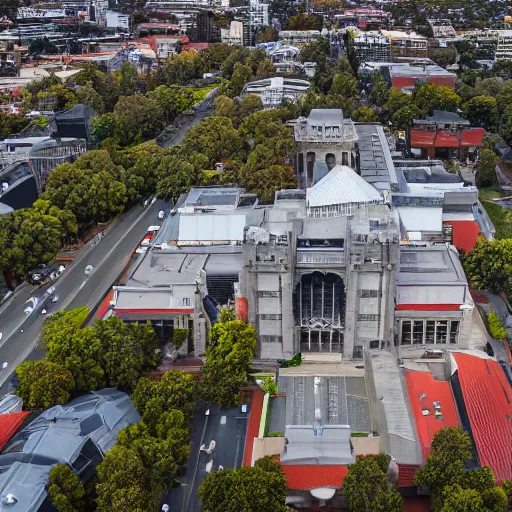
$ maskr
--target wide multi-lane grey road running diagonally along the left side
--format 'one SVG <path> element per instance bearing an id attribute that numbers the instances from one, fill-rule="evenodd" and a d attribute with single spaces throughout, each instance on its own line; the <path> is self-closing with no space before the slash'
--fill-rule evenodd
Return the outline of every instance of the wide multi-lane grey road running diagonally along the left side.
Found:
<path id="1" fill-rule="evenodd" d="M 157 201 L 146 209 L 140 205 L 134 207 L 97 245 L 81 253 L 55 283 L 59 300 L 45 306 L 48 313 L 78 306 L 95 309 L 123 271 L 147 228 L 159 223 L 158 212 L 163 204 L 163 201 Z M 87 265 L 94 267 L 89 276 L 85 275 Z M 0 397 L 7 392 L 6 381 L 17 365 L 27 358 L 37 359 L 44 354 L 44 350 L 38 347 L 41 326 L 46 318 L 40 314 L 42 306 L 30 315 L 24 313 L 25 302 L 32 292 L 31 287 L 22 289 L 0 311 L 0 332 L 3 333 L 0 368 L 4 362 L 8 363 L 5 370 L 0 370 Z M 44 295 L 45 288 L 34 291 L 36 293 Z"/>

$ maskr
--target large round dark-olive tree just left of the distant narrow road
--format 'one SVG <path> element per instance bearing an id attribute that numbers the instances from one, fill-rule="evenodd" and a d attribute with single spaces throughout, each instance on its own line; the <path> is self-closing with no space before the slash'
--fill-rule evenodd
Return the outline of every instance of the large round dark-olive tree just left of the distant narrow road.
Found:
<path id="1" fill-rule="evenodd" d="M 146 96 L 121 96 L 114 107 L 115 133 L 121 144 L 152 139 L 165 126 L 164 113 L 158 103 Z"/>

